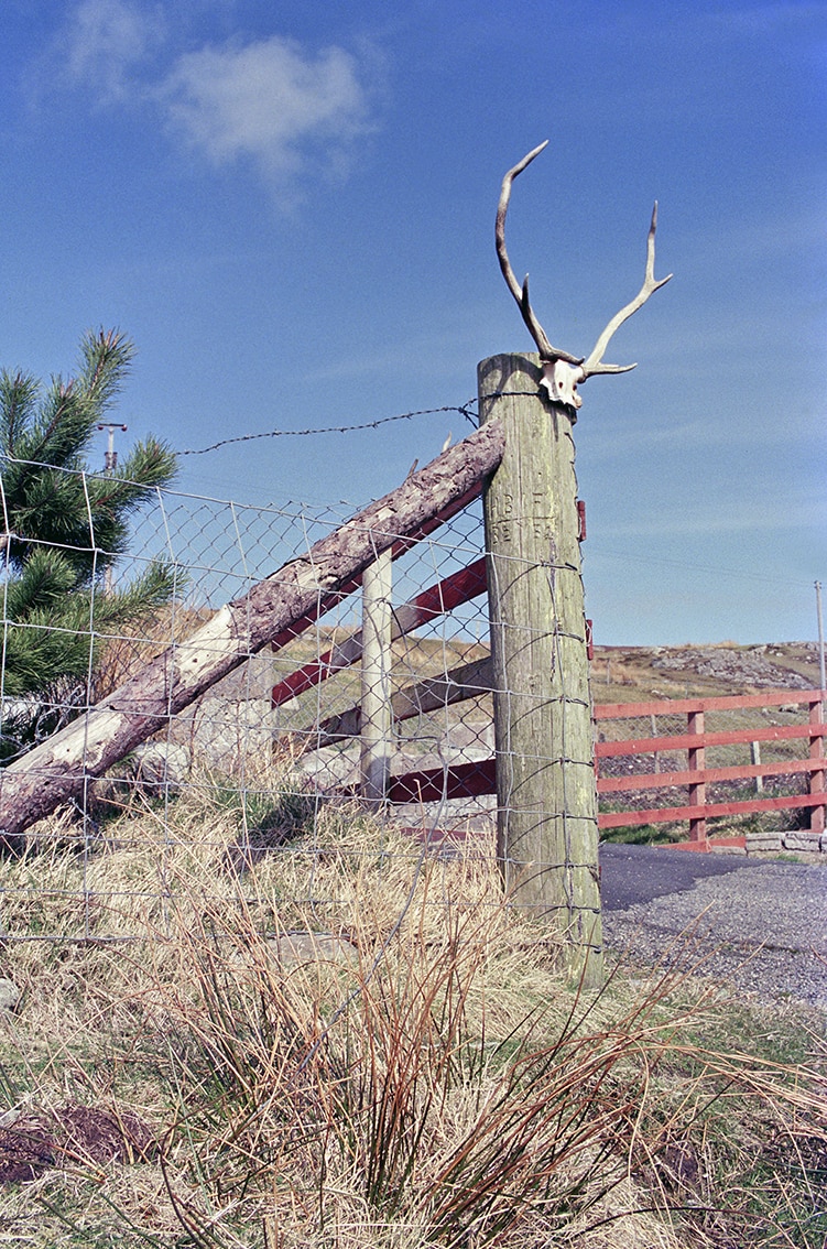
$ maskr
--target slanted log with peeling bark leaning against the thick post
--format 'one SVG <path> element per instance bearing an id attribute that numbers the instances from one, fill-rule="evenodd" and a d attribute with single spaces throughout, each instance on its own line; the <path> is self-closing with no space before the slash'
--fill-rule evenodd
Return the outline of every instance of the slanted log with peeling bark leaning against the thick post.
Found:
<path id="1" fill-rule="evenodd" d="M 435 527 L 473 496 L 500 463 L 502 426 L 488 422 L 334 533 L 222 607 L 189 641 L 170 647 L 81 718 L 0 771 L 0 844 L 22 834 L 169 723 L 200 694 L 272 643 L 289 642 L 360 582 L 379 553 Z"/>

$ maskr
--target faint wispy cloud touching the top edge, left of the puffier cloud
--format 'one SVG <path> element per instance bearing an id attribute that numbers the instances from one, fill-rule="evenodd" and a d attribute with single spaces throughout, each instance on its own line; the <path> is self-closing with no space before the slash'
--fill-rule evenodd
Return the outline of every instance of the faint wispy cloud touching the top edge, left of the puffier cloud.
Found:
<path id="1" fill-rule="evenodd" d="M 130 94 L 130 71 L 161 35 L 157 10 L 127 0 L 81 0 L 55 51 L 74 85 L 90 86 L 102 102 L 111 102 Z"/>

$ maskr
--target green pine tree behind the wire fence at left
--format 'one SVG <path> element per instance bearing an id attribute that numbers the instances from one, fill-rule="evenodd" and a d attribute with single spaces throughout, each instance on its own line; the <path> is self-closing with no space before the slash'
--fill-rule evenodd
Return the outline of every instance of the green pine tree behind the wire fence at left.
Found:
<path id="1" fill-rule="evenodd" d="M 174 452 L 150 437 L 111 473 L 89 475 L 86 452 L 132 357 L 122 333 L 89 332 L 74 380 L 52 377 L 44 387 L 25 373 L 0 372 L 6 761 L 89 701 L 107 633 L 175 593 L 175 570 L 164 561 L 124 588 L 105 590 L 106 570 L 126 551 L 130 517 L 176 472 Z"/>

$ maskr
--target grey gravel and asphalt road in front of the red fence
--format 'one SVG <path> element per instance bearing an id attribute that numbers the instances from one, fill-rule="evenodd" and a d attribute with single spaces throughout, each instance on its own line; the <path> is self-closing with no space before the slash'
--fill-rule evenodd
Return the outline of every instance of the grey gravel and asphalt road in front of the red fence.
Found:
<path id="1" fill-rule="evenodd" d="M 655 965 L 697 922 L 703 973 L 827 1010 L 827 864 L 601 846 L 610 950 Z"/>

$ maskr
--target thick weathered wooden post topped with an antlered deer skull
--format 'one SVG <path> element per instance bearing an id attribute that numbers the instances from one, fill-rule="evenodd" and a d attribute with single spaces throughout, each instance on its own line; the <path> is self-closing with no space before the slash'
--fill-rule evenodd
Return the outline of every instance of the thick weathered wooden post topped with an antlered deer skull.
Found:
<path id="1" fill-rule="evenodd" d="M 582 403 L 578 383 L 635 367 L 606 365 L 603 353 L 618 326 L 668 277 L 655 280 L 656 205 L 638 295 L 587 358 L 551 345 L 531 307 L 528 279 L 520 286 L 505 244 L 513 180 L 545 147 L 506 174 L 496 224 L 500 267 L 538 355 L 493 356 L 478 368 L 480 420 L 496 418 L 506 433 L 485 493 L 497 853 L 515 904 L 552 918 L 570 970 L 596 987 L 597 792 L 572 428 Z"/>

